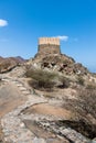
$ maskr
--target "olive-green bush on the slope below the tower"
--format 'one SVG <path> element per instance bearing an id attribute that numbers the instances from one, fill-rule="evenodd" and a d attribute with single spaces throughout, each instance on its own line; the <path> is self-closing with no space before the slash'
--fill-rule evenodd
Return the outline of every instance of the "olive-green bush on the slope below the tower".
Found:
<path id="1" fill-rule="evenodd" d="M 32 78 L 29 84 L 34 88 L 52 89 L 55 85 L 54 78 L 56 75 L 54 73 L 42 69 L 29 69 L 25 76 Z"/>

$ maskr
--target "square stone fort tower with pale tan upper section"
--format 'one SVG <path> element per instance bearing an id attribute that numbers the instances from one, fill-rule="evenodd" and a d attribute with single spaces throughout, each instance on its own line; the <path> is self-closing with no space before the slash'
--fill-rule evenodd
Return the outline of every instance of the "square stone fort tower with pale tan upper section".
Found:
<path id="1" fill-rule="evenodd" d="M 38 46 L 39 55 L 61 54 L 58 37 L 40 37 Z"/>

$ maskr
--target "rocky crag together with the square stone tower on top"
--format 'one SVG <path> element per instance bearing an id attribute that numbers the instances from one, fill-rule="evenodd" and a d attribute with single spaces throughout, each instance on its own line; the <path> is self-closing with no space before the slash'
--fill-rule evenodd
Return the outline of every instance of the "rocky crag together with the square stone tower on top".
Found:
<path id="1" fill-rule="evenodd" d="M 54 37 L 40 38 L 38 54 L 28 64 L 66 75 L 87 75 L 89 73 L 81 63 L 76 63 L 74 58 L 62 54 L 58 38 L 54 40 Z"/>

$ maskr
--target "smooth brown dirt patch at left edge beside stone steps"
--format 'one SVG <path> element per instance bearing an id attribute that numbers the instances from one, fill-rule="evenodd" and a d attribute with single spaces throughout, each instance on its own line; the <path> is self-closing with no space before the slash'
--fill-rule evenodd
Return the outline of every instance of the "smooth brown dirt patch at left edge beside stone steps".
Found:
<path id="1" fill-rule="evenodd" d="M 26 97 L 22 95 L 17 86 L 8 82 L 0 87 L 0 118 L 24 103 Z"/>

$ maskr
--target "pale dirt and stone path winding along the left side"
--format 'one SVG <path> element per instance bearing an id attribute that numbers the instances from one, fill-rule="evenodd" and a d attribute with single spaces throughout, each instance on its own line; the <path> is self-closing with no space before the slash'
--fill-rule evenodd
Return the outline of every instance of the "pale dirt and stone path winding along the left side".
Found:
<path id="1" fill-rule="evenodd" d="M 6 85 L 1 87 L 0 96 L 3 142 L 33 143 L 32 140 L 35 139 L 35 135 L 25 128 L 19 114 L 32 105 L 46 101 L 32 95 L 20 80 L 11 78 L 7 79 Z"/>

